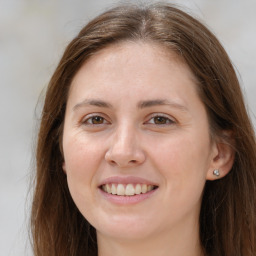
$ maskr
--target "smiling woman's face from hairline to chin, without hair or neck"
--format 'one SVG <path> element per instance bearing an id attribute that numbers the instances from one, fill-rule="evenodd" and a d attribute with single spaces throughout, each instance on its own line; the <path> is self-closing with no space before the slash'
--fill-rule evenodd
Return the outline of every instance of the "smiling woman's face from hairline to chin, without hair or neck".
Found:
<path id="1" fill-rule="evenodd" d="M 193 74 L 174 53 L 130 42 L 91 57 L 71 84 L 63 151 L 70 193 L 98 235 L 198 232 L 217 149 Z"/>

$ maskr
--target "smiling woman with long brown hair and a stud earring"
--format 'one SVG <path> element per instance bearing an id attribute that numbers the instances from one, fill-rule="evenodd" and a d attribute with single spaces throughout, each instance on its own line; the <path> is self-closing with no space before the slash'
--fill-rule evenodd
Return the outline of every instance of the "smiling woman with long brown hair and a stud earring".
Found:
<path id="1" fill-rule="evenodd" d="M 119 6 L 46 93 L 35 255 L 256 253 L 256 147 L 232 64 L 172 5 Z"/>

